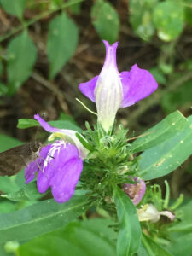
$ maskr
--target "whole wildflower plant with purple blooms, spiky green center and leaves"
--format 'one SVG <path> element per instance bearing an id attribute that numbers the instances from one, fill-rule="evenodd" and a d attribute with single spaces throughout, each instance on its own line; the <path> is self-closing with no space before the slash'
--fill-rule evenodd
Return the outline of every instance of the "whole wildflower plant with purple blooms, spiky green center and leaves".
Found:
<path id="1" fill-rule="evenodd" d="M 131 133 L 118 123 L 116 114 L 119 108 L 150 96 L 158 84 L 137 64 L 119 72 L 118 43 L 103 43 L 106 58 L 101 73 L 79 84 L 84 96 L 96 102 L 97 123 L 85 122 L 86 129 L 79 131 L 59 127 L 60 121 L 51 125 L 38 114 L 35 123 L 27 120 L 28 125 L 41 125 L 50 133 L 48 143 L 38 159 L 26 166 L 26 186 L 3 197 L 36 204 L 16 212 L 13 220 L 13 214 L 5 219 L 14 225 L 21 216 L 18 240 L 24 241 L 59 229 L 80 215 L 85 218 L 84 212 L 90 209 L 110 220 L 113 241 L 108 239 L 116 244 L 117 255 L 172 255 L 173 233 L 184 216 L 177 216 L 183 197 L 170 202 L 168 183 L 163 196 L 160 186 L 150 180 L 172 172 L 189 157 L 192 119 L 176 111 L 132 142 Z M 19 126 L 25 124 L 21 119 Z M 38 198 L 42 201 L 37 202 Z M 32 212 L 29 218 L 26 211 Z M 12 241 L 10 230 L 6 227 L 3 232 Z"/>

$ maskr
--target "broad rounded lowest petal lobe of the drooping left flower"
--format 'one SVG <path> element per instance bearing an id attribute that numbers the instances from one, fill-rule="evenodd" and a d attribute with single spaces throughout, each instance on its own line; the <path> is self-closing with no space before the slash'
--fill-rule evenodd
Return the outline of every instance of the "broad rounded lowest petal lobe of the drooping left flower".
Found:
<path id="1" fill-rule="evenodd" d="M 63 203 L 73 196 L 82 170 L 83 160 L 77 158 L 67 161 L 57 170 L 50 182 L 55 201 Z"/>

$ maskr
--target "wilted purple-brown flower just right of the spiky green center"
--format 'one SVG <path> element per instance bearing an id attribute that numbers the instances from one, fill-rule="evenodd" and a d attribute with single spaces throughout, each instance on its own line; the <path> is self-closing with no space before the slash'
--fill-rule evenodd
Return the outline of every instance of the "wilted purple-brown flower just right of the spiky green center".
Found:
<path id="1" fill-rule="evenodd" d="M 124 184 L 123 189 L 125 193 L 131 198 L 131 201 L 134 205 L 137 205 L 145 194 L 146 184 L 143 179 L 138 177 L 132 178 L 133 181 L 137 182 L 136 184 Z"/>

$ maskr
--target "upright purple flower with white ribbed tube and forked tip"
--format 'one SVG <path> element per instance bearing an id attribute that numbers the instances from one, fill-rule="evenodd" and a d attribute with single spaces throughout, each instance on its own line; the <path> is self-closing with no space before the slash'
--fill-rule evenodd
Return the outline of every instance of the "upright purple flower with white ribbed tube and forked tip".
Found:
<path id="1" fill-rule="evenodd" d="M 109 45 L 105 40 L 103 43 L 106 58 L 101 73 L 89 82 L 79 84 L 79 90 L 96 102 L 98 121 L 108 131 L 119 108 L 131 106 L 149 96 L 158 84 L 151 73 L 137 67 L 137 64 L 131 67 L 130 72 L 119 73 L 116 64 L 118 43 Z"/>

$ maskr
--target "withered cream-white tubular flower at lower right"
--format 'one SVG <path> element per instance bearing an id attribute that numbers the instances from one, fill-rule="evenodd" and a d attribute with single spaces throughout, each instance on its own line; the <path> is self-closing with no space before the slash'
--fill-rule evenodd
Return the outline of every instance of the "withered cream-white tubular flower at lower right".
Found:
<path id="1" fill-rule="evenodd" d="M 169 211 L 162 211 L 158 212 L 156 207 L 152 204 L 144 205 L 141 209 L 137 209 L 137 214 L 139 221 L 151 221 L 151 222 L 158 222 L 160 220 L 160 215 L 164 215 L 167 218 L 173 220 L 175 215 Z"/>

